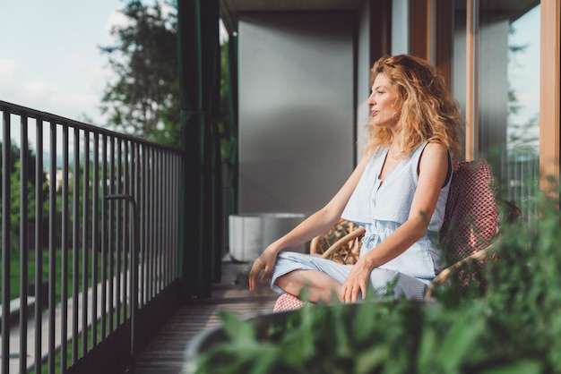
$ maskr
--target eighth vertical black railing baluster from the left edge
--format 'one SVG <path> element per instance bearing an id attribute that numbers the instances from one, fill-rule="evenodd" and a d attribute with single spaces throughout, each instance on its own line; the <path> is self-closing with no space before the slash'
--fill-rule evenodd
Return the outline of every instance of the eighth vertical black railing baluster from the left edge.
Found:
<path id="1" fill-rule="evenodd" d="M 99 133 L 93 134 L 91 183 L 91 347 L 98 344 Z"/>

